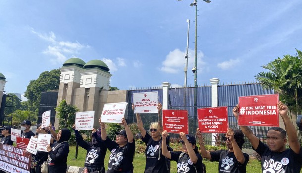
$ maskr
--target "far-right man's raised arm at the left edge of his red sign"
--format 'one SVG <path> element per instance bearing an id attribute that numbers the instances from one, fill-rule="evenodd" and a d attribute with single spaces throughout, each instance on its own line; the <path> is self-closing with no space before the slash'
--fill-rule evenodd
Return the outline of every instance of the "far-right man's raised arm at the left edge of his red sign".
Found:
<path id="1" fill-rule="evenodd" d="M 236 105 L 236 107 L 233 108 L 233 114 L 237 120 L 238 120 L 238 113 L 239 113 L 239 105 Z M 239 126 L 239 127 L 242 130 L 243 134 L 249 139 L 254 149 L 257 149 L 260 142 L 257 136 L 254 135 L 254 133 L 248 126 Z"/>

